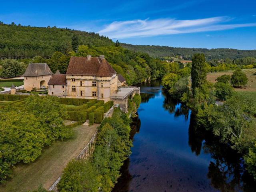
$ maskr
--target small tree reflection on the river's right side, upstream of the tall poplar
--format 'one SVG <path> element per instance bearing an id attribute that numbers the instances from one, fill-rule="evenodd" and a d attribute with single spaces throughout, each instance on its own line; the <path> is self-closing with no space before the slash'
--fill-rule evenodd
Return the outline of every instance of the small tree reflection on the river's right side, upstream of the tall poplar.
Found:
<path id="1" fill-rule="evenodd" d="M 187 121 L 190 111 L 189 108 L 172 98 L 165 90 L 162 90 L 162 95 L 164 96 L 163 108 L 170 113 L 174 113 L 175 117 L 184 116 Z"/>

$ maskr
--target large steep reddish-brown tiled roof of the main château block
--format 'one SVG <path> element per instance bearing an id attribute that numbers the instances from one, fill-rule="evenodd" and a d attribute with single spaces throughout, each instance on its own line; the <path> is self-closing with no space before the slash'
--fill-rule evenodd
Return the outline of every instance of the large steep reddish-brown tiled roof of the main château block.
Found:
<path id="1" fill-rule="evenodd" d="M 94 75 L 108 77 L 116 71 L 103 57 L 71 57 L 67 75 Z"/>

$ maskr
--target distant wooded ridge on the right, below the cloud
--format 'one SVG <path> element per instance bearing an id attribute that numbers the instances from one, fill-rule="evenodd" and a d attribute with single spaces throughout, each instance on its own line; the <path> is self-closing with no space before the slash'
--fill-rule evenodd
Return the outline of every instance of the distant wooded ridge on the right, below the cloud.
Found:
<path id="1" fill-rule="evenodd" d="M 183 56 L 185 60 L 191 60 L 195 53 L 204 53 L 207 60 L 224 58 L 256 57 L 256 50 L 237 50 L 237 49 L 204 49 L 204 48 L 176 48 L 168 46 L 154 45 L 132 45 L 121 44 L 122 47 L 136 52 L 148 53 L 155 58 Z"/>

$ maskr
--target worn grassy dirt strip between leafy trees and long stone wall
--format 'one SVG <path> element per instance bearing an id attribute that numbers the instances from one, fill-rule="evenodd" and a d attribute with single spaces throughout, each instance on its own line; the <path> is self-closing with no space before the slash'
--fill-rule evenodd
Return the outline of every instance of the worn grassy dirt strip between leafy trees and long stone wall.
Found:
<path id="1" fill-rule="evenodd" d="M 0 186 L 1 192 L 27 192 L 43 184 L 48 189 L 61 175 L 68 162 L 76 158 L 92 138 L 98 124 L 79 125 L 74 129 L 74 136 L 64 141 L 56 141 L 44 148 L 42 155 L 33 163 L 20 164 L 14 169 L 13 178 Z"/>

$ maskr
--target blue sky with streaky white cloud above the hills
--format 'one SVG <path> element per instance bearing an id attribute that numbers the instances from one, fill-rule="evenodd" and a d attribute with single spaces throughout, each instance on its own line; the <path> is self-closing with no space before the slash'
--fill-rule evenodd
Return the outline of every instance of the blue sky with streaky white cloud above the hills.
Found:
<path id="1" fill-rule="evenodd" d="M 8 0 L 0 21 L 99 32 L 112 40 L 256 49 L 256 0 Z"/>

